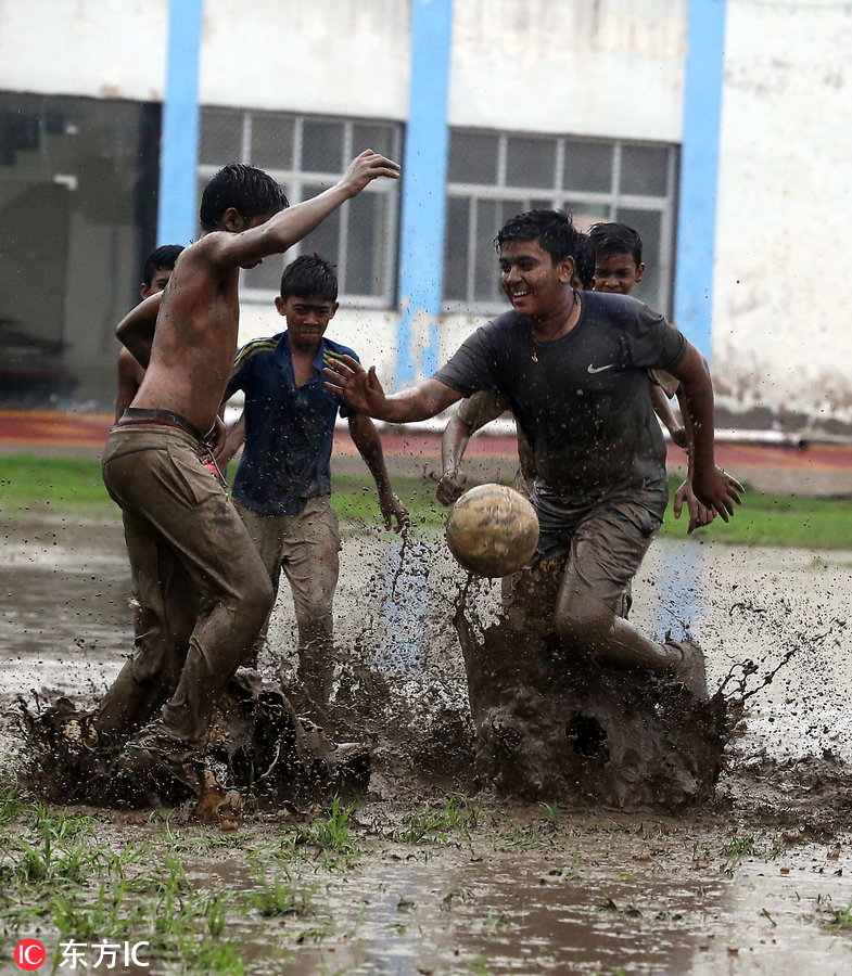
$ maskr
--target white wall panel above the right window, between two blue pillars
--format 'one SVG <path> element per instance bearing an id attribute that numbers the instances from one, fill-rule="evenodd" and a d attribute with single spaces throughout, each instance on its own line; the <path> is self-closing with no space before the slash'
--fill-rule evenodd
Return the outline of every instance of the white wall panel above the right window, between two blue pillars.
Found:
<path id="1" fill-rule="evenodd" d="M 681 139 L 687 0 L 456 0 L 449 120 Z"/>

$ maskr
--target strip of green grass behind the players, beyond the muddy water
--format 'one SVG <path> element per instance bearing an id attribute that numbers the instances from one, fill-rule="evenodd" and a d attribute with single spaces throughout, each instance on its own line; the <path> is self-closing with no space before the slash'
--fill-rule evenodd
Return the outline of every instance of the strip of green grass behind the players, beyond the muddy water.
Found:
<path id="1" fill-rule="evenodd" d="M 0 517 L 21 518 L 30 513 L 62 512 L 80 517 L 109 516 L 116 509 L 106 495 L 97 461 L 81 458 L 0 455 Z M 435 500 L 435 485 L 424 478 L 394 477 L 396 492 L 408 506 L 415 526 L 441 529 L 446 509 Z M 671 495 L 677 481 L 672 480 Z M 380 526 L 372 479 L 365 475 L 334 475 L 332 504 L 354 527 Z M 666 513 L 661 535 L 686 538 L 687 516 Z M 748 490 L 743 504 L 725 524 L 694 532 L 692 539 L 716 539 L 745 545 L 780 545 L 852 550 L 852 504 L 842 498 L 778 496 Z"/>

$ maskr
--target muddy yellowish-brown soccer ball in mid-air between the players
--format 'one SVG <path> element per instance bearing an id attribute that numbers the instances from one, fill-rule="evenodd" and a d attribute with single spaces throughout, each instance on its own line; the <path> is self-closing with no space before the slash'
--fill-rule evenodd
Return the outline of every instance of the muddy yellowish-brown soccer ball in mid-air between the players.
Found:
<path id="1" fill-rule="evenodd" d="M 538 543 L 538 518 L 530 502 L 504 485 L 466 491 L 447 518 L 447 545 L 478 576 L 508 576 L 525 565 Z"/>

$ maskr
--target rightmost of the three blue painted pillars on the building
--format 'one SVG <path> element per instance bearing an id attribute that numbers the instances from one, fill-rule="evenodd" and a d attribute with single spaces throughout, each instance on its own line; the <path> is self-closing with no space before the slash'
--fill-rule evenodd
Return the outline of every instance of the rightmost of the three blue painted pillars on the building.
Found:
<path id="1" fill-rule="evenodd" d="M 674 320 L 708 358 L 712 345 L 725 13 L 726 0 L 689 0 Z"/>

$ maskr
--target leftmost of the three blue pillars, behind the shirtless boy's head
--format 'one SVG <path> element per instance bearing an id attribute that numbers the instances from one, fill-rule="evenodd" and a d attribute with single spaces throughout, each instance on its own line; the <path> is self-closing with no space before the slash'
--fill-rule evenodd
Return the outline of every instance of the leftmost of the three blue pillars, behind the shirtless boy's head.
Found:
<path id="1" fill-rule="evenodd" d="M 166 89 L 160 141 L 157 245 L 195 236 L 199 162 L 199 63 L 204 0 L 169 0 Z"/>

